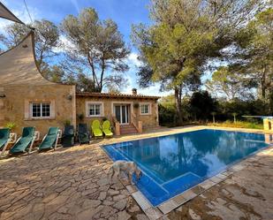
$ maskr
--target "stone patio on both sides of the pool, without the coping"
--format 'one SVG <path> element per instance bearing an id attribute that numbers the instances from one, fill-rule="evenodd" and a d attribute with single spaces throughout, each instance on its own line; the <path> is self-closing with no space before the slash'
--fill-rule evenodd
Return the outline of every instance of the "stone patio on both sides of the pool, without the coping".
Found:
<path id="1" fill-rule="evenodd" d="M 163 128 L 0 160 L 0 219 L 148 219 L 131 187 L 109 183 L 112 162 L 99 145 L 201 128 Z M 273 151 L 243 163 L 243 169 L 163 219 L 273 219 Z"/>

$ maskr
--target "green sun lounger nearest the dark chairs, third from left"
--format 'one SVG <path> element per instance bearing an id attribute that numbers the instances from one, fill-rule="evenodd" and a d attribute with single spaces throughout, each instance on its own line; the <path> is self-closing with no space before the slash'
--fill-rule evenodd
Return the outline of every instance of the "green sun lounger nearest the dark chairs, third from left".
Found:
<path id="1" fill-rule="evenodd" d="M 43 137 L 39 150 L 56 149 L 57 141 L 61 137 L 61 131 L 58 127 L 49 127 L 49 132 Z"/>

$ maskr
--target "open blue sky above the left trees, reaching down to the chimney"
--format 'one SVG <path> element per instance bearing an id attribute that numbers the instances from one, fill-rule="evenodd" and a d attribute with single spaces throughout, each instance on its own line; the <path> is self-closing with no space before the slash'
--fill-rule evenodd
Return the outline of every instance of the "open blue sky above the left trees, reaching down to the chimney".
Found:
<path id="1" fill-rule="evenodd" d="M 0 0 L 4 3 L 19 19 L 26 23 L 30 22 L 23 0 Z M 100 19 L 113 19 L 119 31 L 124 35 L 125 42 L 131 47 L 132 53 L 128 58 L 130 71 L 125 72 L 129 81 L 129 86 L 122 92 L 131 93 L 132 87 L 137 86 L 136 67 L 137 50 L 130 42 L 131 27 L 133 24 L 150 24 L 148 17 L 149 0 L 26 0 L 28 9 L 33 19 L 49 19 L 59 24 L 66 15 L 77 16 L 79 11 L 85 7 L 93 7 L 98 12 Z M 6 21 L 0 20 L 0 30 L 3 29 Z M 139 88 L 139 87 L 138 87 Z M 140 89 L 139 93 L 144 95 L 167 95 L 160 93 L 159 85 Z"/>

